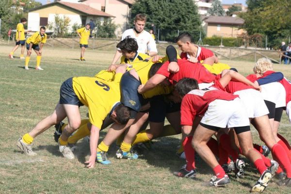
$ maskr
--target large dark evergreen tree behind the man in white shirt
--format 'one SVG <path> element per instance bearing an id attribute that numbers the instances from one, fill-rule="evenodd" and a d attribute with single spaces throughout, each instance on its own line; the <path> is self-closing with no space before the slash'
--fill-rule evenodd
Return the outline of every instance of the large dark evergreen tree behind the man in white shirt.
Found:
<path id="1" fill-rule="evenodd" d="M 189 32 L 197 41 L 200 31 L 203 32 L 193 0 L 136 0 L 131 8 L 131 24 L 139 13 L 147 16 L 146 29 L 151 28 L 151 23 L 160 29 L 160 40 L 174 41 L 179 30 Z"/>

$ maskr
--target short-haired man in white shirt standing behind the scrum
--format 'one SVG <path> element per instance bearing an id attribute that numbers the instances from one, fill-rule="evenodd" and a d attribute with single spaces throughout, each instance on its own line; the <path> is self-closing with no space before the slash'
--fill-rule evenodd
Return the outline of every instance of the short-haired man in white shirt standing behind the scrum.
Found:
<path id="1" fill-rule="evenodd" d="M 151 57 L 157 55 L 158 50 L 155 40 L 150 33 L 144 30 L 146 25 L 146 16 L 143 14 L 136 15 L 133 24 L 134 28 L 123 32 L 121 40 L 125 39 L 127 36 L 130 36 L 131 38 L 136 39 L 138 44 L 138 52 L 147 53 Z M 111 65 L 114 65 L 121 55 L 121 50 L 117 49 Z"/>

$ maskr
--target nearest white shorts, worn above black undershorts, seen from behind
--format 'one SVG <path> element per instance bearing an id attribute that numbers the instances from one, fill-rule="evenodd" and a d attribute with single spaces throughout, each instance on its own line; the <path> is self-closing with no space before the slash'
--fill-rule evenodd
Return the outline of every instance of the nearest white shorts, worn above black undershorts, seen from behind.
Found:
<path id="1" fill-rule="evenodd" d="M 234 100 L 216 99 L 212 101 L 201 123 L 219 128 L 249 126 L 249 118 L 243 108 L 240 98 Z"/>

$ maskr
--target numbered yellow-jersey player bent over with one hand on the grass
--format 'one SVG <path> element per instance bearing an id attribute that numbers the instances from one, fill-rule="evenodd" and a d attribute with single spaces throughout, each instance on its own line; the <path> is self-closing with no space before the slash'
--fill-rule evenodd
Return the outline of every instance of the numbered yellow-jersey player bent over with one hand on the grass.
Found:
<path id="1" fill-rule="evenodd" d="M 58 141 L 59 151 L 65 158 L 74 159 L 74 154 L 67 146 L 67 139 L 80 127 L 81 115 L 79 107 L 86 105 L 89 110 L 89 122 L 91 124 L 91 156 L 85 163 L 88 163 L 87 167 L 93 168 L 97 155 L 99 130 L 105 117 L 109 114 L 113 121 L 121 126 L 129 120 L 129 108 L 120 102 L 119 82 L 125 69 L 125 65 L 116 69 L 113 81 L 89 77 L 74 77 L 66 80 L 61 86 L 60 100 L 54 112 L 40 121 L 29 133 L 20 137 L 17 140 L 17 146 L 27 155 L 36 155 L 31 147 L 33 139 L 67 117 L 68 125 L 65 126 Z"/>

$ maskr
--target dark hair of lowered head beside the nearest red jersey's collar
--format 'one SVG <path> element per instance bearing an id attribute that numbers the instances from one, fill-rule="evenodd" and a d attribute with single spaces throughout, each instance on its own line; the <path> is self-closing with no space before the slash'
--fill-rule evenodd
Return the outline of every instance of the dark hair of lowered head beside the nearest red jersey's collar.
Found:
<path id="1" fill-rule="evenodd" d="M 192 78 L 183 78 L 175 85 L 175 90 L 181 97 L 195 89 L 199 89 L 198 81 Z"/>

